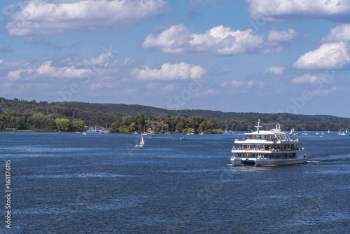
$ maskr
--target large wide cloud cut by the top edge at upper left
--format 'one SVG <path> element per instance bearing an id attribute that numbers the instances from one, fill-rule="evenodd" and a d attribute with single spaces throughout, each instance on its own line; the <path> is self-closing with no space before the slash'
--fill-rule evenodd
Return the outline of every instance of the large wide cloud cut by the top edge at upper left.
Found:
<path id="1" fill-rule="evenodd" d="M 30 0 L 6 10 L 9 34 L 37 36 L 130 28 L 170 9 L 165 0 Z"/>

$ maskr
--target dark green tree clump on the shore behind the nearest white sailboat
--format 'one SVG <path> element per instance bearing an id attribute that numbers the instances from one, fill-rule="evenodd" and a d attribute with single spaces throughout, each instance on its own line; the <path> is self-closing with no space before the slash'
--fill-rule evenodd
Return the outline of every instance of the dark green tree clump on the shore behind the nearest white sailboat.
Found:
<path id="1" fill-rule="evenodd" d="M 132 132 L 152 132 L 152 133 L 200 133 L 221 134 L 221 122 L 212 118 L 207 120 L 201 116 L 156 116 L 153 114 L 152 119 L 148 120 L 144 115 L 119 117 L 112 124 L 109 132 L 111 133 L 132 133 Z"/>

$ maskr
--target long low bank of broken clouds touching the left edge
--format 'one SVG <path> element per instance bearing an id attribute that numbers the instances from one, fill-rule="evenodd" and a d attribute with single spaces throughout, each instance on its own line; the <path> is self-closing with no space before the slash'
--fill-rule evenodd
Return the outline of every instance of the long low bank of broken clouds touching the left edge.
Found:
<path id="1" fill-rule="evenodd" d="M 10 81 L 34 81 L 45 78 L 85 78 L 94 77 L 99 81 L 115 79 L 120 69 L 130 66 L 132 58 L 116 60 L 111 52 L 97 57 L 71 56 L 62 60 L 49 60 L 33 64 L 27 60 L 3 61 L 0 63 L 0 78 Z"/>

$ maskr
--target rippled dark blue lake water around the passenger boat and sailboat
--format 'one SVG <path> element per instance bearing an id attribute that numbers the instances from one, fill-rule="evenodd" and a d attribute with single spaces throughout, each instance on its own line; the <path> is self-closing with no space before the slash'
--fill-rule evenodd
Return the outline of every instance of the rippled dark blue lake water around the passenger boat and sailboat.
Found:
<path id="1" fill-rule="evenodd" d="M 350 135 L 300 136 L 309 163 L 267 167 L 230 166 L 237 135 L 139 137 L 1 132 L 10 233 L 349 233 Z"/>

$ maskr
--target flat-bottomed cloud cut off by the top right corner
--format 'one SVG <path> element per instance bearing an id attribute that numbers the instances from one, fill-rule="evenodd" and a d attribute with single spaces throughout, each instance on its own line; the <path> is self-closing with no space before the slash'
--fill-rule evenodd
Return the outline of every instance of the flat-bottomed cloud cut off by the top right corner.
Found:
<path id="1" fill-rule="evenodd" d="M 350 2 L 344 0 L 246 0 L 251 18 L 280 22 L 300 18 L 349 18 Z"/>

